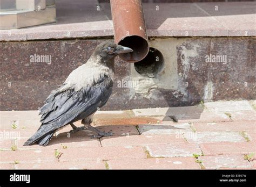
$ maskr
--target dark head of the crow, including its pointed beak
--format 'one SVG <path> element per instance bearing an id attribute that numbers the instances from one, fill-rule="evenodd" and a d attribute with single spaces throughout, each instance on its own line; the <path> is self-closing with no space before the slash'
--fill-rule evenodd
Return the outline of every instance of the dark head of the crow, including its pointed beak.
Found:
<path id="1" fill-rule="evenodd" d="M 133 52 L 131 48 L 114 44 L 111 41 L 102 42 L 95 49 L 95 53 L 105 60 L 113 59 L 119 54 L 130 52 Z"/>

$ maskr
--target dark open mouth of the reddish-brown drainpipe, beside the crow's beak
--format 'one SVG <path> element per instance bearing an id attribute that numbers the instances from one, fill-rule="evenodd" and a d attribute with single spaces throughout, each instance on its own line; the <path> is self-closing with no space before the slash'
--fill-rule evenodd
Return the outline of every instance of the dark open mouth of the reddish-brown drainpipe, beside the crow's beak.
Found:
<path id="1" fill-rule="evenodd" d="M 124 53 L 119 55 L 121 59 L 127 62 L 138 62 L 142 60 L 149 52 L 149 44 L 147 44 L 147 41 L 137 35 L 125 37 L 123 40 L 119 41 L 118 44 L 133 49 L 132 53 Z"/>

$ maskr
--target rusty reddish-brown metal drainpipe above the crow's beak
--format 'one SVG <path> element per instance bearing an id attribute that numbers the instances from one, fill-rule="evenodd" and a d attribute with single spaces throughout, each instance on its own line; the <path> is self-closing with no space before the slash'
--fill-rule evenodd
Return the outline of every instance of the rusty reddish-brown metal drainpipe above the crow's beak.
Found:
<path id="1" fill-rule="evenodd" d="M 110 0 L 114 42 L 133 49 L 119 55 L 127 62 L 138 62 L 149 53 L 146 26 L 140 0 Z"/>

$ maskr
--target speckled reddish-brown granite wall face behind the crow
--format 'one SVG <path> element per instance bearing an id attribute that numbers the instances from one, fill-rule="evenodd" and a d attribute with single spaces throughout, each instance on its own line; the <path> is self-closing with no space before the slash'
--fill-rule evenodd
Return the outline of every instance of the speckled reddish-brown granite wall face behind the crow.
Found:
<path id="1" fill-rule="evenodd" d="M 0 42 L 0 110 L 37 110 L 50 91 L 62 84 L 73 69 L 85 63 L 102 41 Z M 144 92 L 138 92 L 129 84 L 134 64 L 117 57 L 113 93 L 103 110 L 256 99 L 255 37 L 187 37 L 171 38 L 170 42 L 175 44 L 175 53 L 164 55 L 174 55 L 175 58 L 164 63 L 177 64 L 178 76 L 174 81 L 177 81 L 178 88 L 144 85 Z M 38 55 L 46 55 L 46 58 L 37 61 Z M 138 81 L 143 83 L 143 78 L 140 77 Z"/>

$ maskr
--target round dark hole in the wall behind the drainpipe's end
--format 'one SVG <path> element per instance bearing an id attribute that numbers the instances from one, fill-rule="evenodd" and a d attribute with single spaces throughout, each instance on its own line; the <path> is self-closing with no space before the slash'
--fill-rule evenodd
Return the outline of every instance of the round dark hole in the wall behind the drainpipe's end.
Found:
<path id="1" fill-rule="evenodd" d="M 164 67 L 164 57 L 156 48 L 150 47 L 147 56 L 134 63 L 135 70 L 144 77 L 154 78 Z"/>

